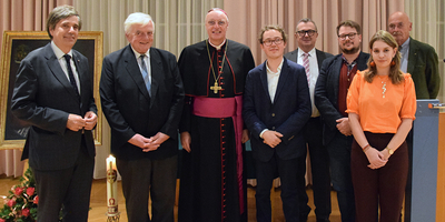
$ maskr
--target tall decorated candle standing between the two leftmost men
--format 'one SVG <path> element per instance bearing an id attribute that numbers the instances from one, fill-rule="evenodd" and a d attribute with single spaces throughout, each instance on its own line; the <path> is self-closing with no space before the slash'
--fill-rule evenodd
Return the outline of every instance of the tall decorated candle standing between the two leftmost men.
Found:
<path id="1" fill-rule="evenodd" d="M 116 170 L 116 158 L 110 155 L 107 158 L 107 205 L 108 215 L 117 215 L 118 212 L 118 183 L 116 182 L 118 176 Z"/>

